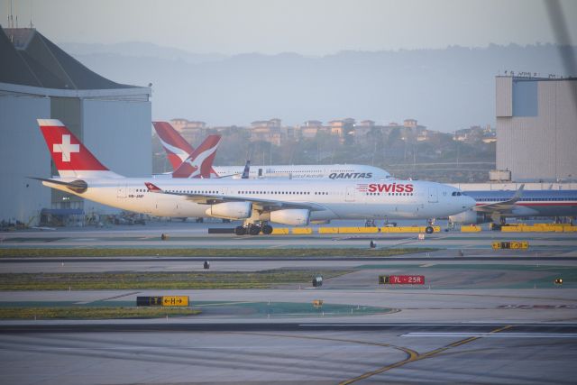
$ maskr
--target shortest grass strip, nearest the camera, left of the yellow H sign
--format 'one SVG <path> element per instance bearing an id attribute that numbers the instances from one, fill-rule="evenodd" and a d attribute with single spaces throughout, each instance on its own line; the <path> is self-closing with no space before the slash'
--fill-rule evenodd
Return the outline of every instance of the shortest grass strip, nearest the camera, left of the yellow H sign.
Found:
<path id="1" fill-rule="evenodd" d="M 5 307 L 0 319 L 114 319 L 196 316 L 189 307 Z"/>

